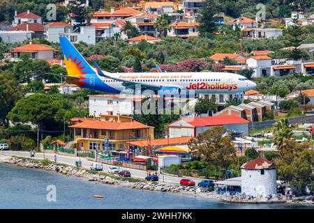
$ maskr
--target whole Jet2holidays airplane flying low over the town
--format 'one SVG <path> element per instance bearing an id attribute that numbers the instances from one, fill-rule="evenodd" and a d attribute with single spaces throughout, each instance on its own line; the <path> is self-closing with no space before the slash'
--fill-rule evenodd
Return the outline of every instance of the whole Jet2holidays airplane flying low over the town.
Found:
<path id="1" fill-rule="evenodd" d="M 256 84 L 244 76 L 227 72 L 126 72 L 112 73 L 100 69 L 96 62 L 93 68 L 77 51 L 66 36 L 59 36 L 68 75 L 66 82 L 81 88 L 106 93 L 152 90 L 160 95 L 174 95 L 182 90 L 199 93 L 239 93 L 254 89 Z"/>

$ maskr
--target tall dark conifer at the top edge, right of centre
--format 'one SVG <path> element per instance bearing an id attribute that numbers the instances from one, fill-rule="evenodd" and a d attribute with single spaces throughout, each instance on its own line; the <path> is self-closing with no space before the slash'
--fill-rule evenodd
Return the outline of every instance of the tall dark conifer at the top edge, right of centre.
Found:
<path id="1" fill-rule="evenodd" d="M 217 30 L 217 26 L 215 24 L 217 17 L 214 15 L 217 13 L 219 12 L 216 1 L 204 0 L 203 6 L 200 8 L 200 16 L 198 17 L 200 26 L 197 27 L 202 36 L 214 36 L 213 33 Z"/>

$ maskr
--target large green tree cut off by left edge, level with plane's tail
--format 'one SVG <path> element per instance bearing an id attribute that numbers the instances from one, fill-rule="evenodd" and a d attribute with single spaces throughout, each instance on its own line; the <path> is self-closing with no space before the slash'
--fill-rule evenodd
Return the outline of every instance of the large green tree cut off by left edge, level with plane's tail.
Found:
<path id="1" fill-rule="evenodd" d="M 0 83 L 0 125 L 8 126 L 7 114 L 24 93 L 9 71 L 0 70 Z"/>

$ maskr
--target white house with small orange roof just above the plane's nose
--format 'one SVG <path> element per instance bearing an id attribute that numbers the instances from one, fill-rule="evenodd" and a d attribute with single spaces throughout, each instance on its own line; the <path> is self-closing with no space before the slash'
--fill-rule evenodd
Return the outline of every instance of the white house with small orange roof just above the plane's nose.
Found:
<path id="1" fill-rule="evenodd" d="M 269 56 L 251 56 L 246 59 L 246 65 L 254 70 L 253 77 L 268 77 L 273 72 Z"/>

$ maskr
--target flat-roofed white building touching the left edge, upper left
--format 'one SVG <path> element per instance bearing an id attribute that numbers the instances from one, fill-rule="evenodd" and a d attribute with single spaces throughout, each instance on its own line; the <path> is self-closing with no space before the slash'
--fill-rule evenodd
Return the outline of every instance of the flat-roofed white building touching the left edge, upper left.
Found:
<path id="1" fill-rule="evenodd" d="M 0 38 L 3 43 L 22 43 L 31 40 L 33 31 L 0 31 Z"/>

